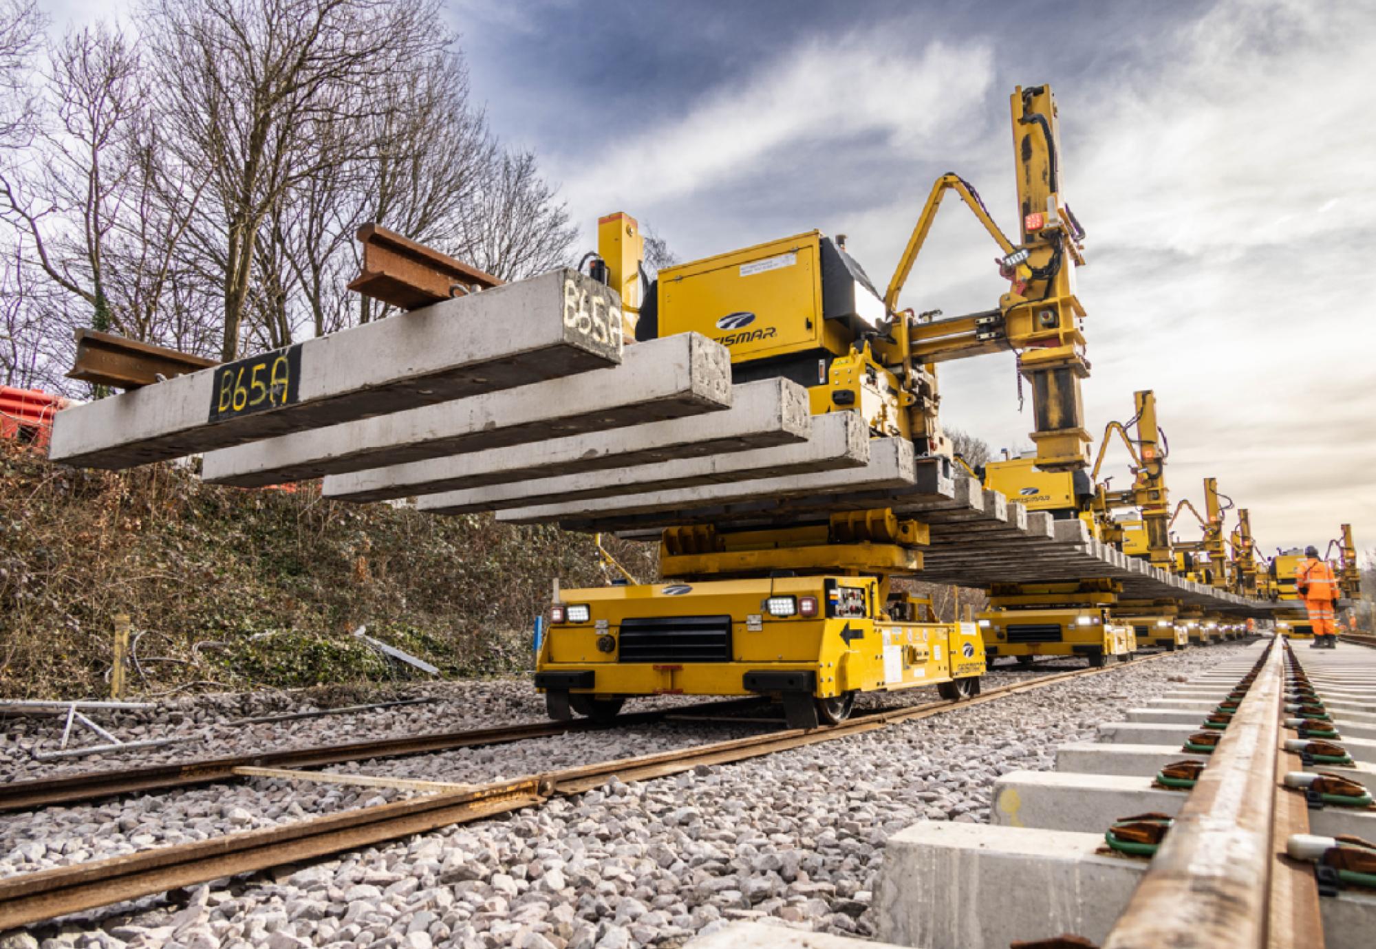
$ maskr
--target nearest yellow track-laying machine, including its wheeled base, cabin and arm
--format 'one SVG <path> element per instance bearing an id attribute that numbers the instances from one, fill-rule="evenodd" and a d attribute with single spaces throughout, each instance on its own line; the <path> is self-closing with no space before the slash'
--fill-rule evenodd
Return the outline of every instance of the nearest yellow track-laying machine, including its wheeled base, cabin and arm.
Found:
<path id="1" fill-rule="evenodd" d="M 1014 351 L 1032 388 L 1038 463 L 1082 469 L 1083 231 L 1061 197 L 1051 89 L 1017 89 L 1011 113 L 1020 243 L 973 187 L 944 175 L 882 297 L 841 241 L 806 231 L 662 270 L 641 297 L 634 337 L 709 336 L 729 349 L 735 382 L 791 378 L 809 389 L 815 414 L 859 413 L 875 437 L 911 439 L 919 457 L 949 455 L 937 363 Z M 947 191 L 998 243 L 1010 289 L 995 309 L 932 319 L 900 309 L 899 298 Z M 638 227 L 625 215 L 599 228 L 599 265 L 625 292 L 640 274 L 629 231 Z M 936 622 L 890 589 L 893 578 L 919 574 L 925 543 L 925 524 L 882 505 L 775 530 L 667 528 L 666 582 L 556 587 L 535 685 L 555 718 L 614 715 L 634 696 L 762 695 L 779 699 L 795 728 L 841 721 L 860 692 L 937 685 L 947 697 L 973 695 L 985 668 L 976 624 Z"/>

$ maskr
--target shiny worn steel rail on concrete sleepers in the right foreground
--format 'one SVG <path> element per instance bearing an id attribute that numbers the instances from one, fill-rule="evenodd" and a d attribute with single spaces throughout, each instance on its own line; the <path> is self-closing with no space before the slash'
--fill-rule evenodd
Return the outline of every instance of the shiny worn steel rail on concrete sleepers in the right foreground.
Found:
<path id="1" fill-rule="evenodd" d="M 1277 644 L 1104 949 L 1266 945 L 1285 673 Z"/>

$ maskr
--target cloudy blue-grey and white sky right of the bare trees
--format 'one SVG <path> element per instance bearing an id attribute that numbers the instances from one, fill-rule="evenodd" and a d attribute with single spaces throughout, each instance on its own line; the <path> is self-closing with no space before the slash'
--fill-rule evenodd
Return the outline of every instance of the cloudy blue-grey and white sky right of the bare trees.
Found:
<path id="1" fill-rule="evenodd" d="M 447 6 L 493 127 L 539 153 L 589 246 L 626 210 L 681 259 L 816 227 L 886 283 L 947 171 L 1011 231 L 1009 94 L 1050 83 L 1095 439 L 1154 389 L 1175 499 L 1214 476 L 1267 550 L 1342 521 L 1376 549 L 1376 3 Z M 951 202 L 904 305 L 991 308 L 993 252 Z M 1011 355 L 941 381 L 948 424 L 1029 446 Z"/>

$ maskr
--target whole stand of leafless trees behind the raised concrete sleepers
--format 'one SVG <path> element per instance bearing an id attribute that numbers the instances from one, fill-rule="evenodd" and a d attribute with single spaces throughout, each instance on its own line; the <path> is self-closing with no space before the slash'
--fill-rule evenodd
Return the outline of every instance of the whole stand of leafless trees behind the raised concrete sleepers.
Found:
<path id="1" fill-rule="evenodd" d="M 146 4 L 138 44 L 40 47 L 32 3 L 0 0 L 0 92 L 37 91 L 0 142 L 3 378 L 72 391 L 74 326 L 227 359 L 383 316 L 345 289 L 365 221 L 505 278 L 568 260 L 567 210 L 471 103 L 435 0 Z"/>

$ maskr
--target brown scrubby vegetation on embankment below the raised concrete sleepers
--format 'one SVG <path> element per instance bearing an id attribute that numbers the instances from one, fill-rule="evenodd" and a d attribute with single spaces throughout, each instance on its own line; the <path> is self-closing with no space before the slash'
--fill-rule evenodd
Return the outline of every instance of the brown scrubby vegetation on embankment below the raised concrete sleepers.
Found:
<path id="1" fill-rule="evenodd" d="M 643 545 L 616 553 L 654 575 Z M 0 697 L 106 693 L 117 613 L 149 695 L 407 675 L 359 626 L 447 677 L 530 668 L 556 575 L 604 582 L 590 536 L 213 487 L 165 463 L 84 472 L 0 440 Z"/>

